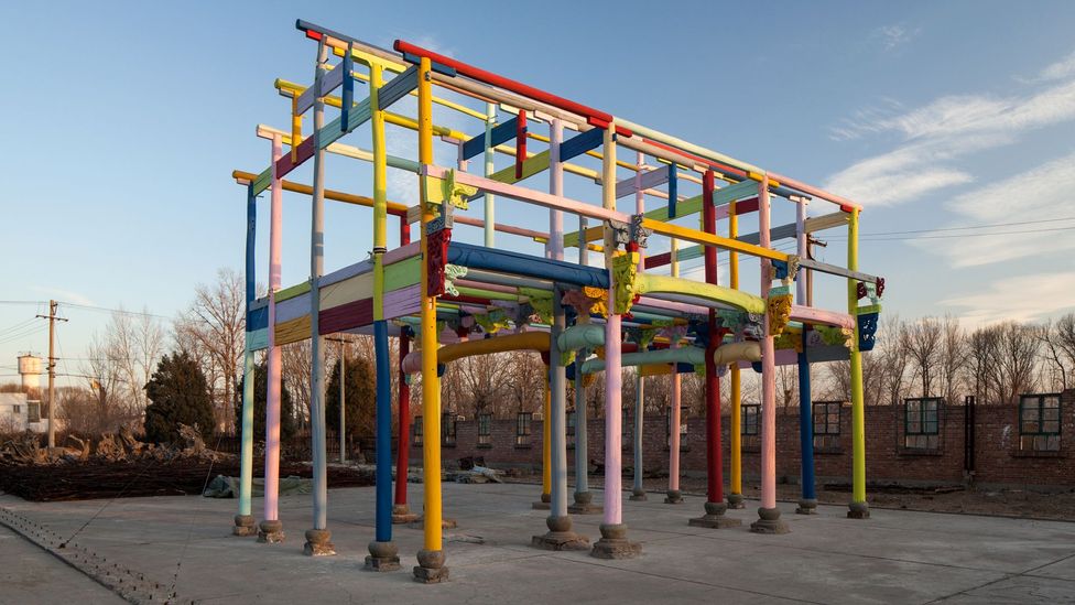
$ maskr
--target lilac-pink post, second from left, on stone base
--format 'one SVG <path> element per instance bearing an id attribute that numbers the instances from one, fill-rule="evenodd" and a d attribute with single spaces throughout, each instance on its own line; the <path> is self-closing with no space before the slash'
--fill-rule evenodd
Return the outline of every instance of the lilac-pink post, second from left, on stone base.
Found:
<path id="1" fill-rule="evenodd" d="M 276 161 L 283 154 L 281 137 L 272 137 L 272 182 L 269 193 L 269 343 L 265 361 L 265 497 L 263 520 L 258 528 L 258 541 L 267 543 L 284 540 L 280 522 L 278 494 L 280 489 L 280 347 L 276 346 L 276 292 L 280 290 L 281 252 L 283 250 L 283 183 L 276 175 Z"/>

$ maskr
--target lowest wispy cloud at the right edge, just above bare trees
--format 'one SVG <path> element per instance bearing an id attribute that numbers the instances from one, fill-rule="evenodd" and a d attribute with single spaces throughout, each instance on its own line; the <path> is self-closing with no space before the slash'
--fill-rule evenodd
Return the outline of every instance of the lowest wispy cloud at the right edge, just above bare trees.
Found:
<path id="1" fill-rule="evenodd" d="M 1073 291 L 1075 272 L 1038 273 L 997 280 L 987 291 L 947 299 L 941 305 L 965 309 L 959 321 L 970 327 L 1006 320 L 1033 322 L 1075 306 Z"/>

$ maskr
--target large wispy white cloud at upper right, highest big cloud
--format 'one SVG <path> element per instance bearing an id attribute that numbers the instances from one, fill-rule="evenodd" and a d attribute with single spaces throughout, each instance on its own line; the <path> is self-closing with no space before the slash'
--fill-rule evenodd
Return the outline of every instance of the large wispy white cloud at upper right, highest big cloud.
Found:
<path id="1" fill-rule="evenodd" d="M 1069 75 L 1075 76 L 1075 65 Z M 955 95 L 901 114 L 860 112 L 834 128 L 832 137 L 849 140 L 894 133 L 902 142 L 834 174 L 826 185 L 867 205 L 909 202 L 974 181 L 954 160 L 1011 144 L 1028 131 L 1073 119 L 1075 78 L 1022 96 Z"/>

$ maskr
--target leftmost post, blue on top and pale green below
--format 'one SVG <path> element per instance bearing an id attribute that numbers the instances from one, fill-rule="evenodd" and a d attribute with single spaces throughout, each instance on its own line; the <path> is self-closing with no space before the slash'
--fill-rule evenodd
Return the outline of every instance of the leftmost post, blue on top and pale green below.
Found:
<path id="1" fill-rule="evenodd" d="M 253 484 L 253 349 L 250 348 L 250 304 L 256 292 L 254 272 L 257 271 L 257 229 L 258 229 L 258 198 L 253 195 L 253 186 L 247 185 L 247 307 L 243 333 L 245 347 L 242 352 L 242 412 L 239 421 L 239 511 L 235 516 L 231 533 L 235 536 L 253 536 L 258 532 L 254 527 L 253 515 L 250 512 L 250 490 Z"/>

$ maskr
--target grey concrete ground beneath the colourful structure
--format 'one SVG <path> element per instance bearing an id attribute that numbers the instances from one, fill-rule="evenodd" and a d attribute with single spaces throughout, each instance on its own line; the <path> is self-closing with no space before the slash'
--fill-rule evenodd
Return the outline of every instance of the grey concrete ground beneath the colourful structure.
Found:
<path id="1" fill-rule="evenodd" d="M 421 508 L 421 485 L 411 485 Z M 310 496 L 281 498 L 287 539 L 259 544 L 230 536 L 235 500 L 199 497 L 130 498 L 111 503 L 25 503 L 0 496 L 0 521 L 20 525 L 61 557 L 104 576 L 131 601 L 161 603 L 1075 603 L 1075 523 L 875 510 L 873 518 L 845 518 L 846 508 L 822 506 L 811 517 L 781 504 L 792 532 L 748 530 L 757 501 L 729 511 L 741 528 L 687 526 L 703 498 L 663 504 L 626 500 L 630 537 L 642 557 L 605 561 L 587 552 L 531 548 L 545 531 L 545 511 L 531 509 L 532 485 L 445 484 L 446 516 L 459 528 L 445 531 L 452 581 L 412 580 L 422 531 L 395 527 L 403 569 L 362 571 L 372 539 L 373 488 L 329 491 L 329 529 L 338 555 L 302 554 L 311 526 Z M 600 494 L 597 494 L 599 500 Z M 254 503 L 256 512 L 261 503 Z M 87 521 L 91 521 L 86 525 Z M 575 527 L 599 538 L 599 516 L 575 517 Z M 79 531 L 79 528 L 85 527 Z M 44 552 L 20 554 L 0 545 L 6 568 L 0 602 L 86 601 L 107 594 Z M 33 549 L 23 542 L 23 550 Z M 19 562 L 9 561 L 19 558 Z M 24 561 L 33 561 L 26 563 Z M 33 570 L 11 583 L 10 565 Z M 102 575 L 104 574 L 104 575 Z M 122 581 L 122 582 L 120 582 Z M 96 593 L 94 593 L 96 591 Z M 91 594 L 93 593 L 93 594 Z M 25 598 L 32 594 L 33 598 Z M 152 595 L 152 601 L 148 596 Z"/>

